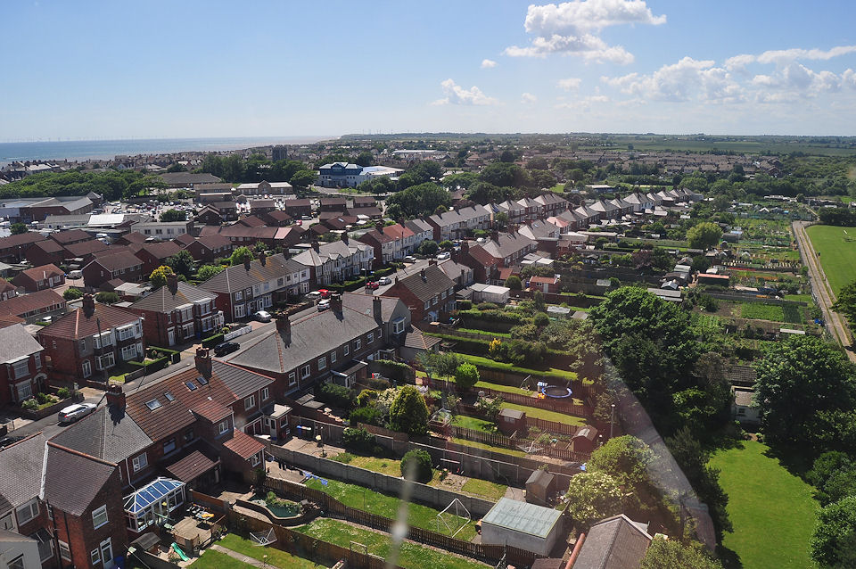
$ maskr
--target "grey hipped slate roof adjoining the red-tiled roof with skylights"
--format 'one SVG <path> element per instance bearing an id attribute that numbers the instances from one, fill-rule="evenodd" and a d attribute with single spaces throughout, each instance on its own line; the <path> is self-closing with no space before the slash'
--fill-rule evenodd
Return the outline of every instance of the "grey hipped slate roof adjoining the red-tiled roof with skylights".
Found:
<path id="1" fill-rule="evenodd" d="M 108 462 L 119 462 L 152 444 L 150 439 L 124 410 L 103 406 L 51 441 Z"/>

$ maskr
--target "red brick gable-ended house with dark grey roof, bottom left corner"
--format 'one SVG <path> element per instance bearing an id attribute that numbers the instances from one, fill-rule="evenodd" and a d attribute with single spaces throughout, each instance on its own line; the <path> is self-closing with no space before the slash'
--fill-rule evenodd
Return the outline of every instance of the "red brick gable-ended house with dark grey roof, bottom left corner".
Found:
<path id="1" fill-rule="evenodd" d="M 43 498 L 61 567 L 111 569 L 128 551 L 119 466 L 47 441 Z"/>

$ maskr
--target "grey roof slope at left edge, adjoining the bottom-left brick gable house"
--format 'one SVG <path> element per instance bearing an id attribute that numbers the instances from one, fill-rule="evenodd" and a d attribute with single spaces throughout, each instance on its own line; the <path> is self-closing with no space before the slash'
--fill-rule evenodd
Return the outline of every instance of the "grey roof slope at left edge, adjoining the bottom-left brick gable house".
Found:
<path id="1" fill-rule="evenodd" d="M 20 507 L 38 496 L 45 464 L 45 436 L 34 434 L 0 450 L 0 496 Z"/>

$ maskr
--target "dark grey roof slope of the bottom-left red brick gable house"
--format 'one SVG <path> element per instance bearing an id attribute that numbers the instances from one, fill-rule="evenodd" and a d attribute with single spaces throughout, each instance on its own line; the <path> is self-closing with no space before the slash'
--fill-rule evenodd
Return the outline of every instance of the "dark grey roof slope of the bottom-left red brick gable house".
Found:
<path id="1" fill-rule="evenodd" d="M 63 512 L 82 515 L 116 468 L 49 442 L 43 498 Z"/>

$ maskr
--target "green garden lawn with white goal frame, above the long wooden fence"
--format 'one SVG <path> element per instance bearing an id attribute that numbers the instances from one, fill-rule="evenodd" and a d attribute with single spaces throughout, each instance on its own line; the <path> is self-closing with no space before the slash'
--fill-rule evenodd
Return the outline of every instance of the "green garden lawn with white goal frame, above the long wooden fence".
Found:
<path id="1" fill-rule="evenodd" d="M 316 478 L 312 478 L 306 482 L 306 485 L 309 488 L 314 488 L 333 496 L 333 498 L 339 500 L 345 506 L 356 507 L 365 512 L 393 519 L 398 517 L 399 514 L 400 499 L 356 484 L 327 480 L 327 484 L 324 485 Z M 438 511 L 432 507 L 411 503 L 407 508 L 407 522 L 424 530 L 437 532 L 437 514 Z M 457 518 L 457 522 L 463 524 L 465 523 L 465 519 L 459 517 Z M 472 540 L 475 537 L 475 522 L 466 524 L 466 527 L 458 532 L 456 537 L 465 541 Z"/>

